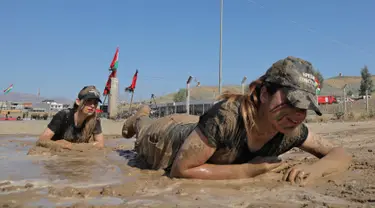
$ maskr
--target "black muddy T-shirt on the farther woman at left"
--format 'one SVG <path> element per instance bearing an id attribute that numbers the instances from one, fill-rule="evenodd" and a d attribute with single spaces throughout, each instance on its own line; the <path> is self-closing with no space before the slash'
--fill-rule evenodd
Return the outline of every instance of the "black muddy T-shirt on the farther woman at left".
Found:
<path id="1" fill-rule="evenodd" d="M 76 127 L 74 123 L 74 109 L 64 109 L 59 111 L 48 124 L 48 128 L 55 134 L 52 137 L 53 141 L 65 139 L 69 142 L 80 143 L 87 142 L 87 138 L 83 138 L 83 129 L 86 121 L 80 127 Z M 90 135 L 102 133 L 100 120 L 97 119 L 95 128 Z"/>

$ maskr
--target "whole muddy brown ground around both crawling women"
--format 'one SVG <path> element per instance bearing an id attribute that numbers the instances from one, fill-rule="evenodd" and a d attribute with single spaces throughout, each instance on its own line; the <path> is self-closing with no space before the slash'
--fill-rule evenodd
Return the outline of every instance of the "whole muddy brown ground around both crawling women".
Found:
<path id="1" fill-rule="evenodd" d="M 375 121 L 308 123 L 354 158 L 347 172 L 306 187 L 282 182 L 277 173 L 246 180 L 170 179 L 162 171 L 129 165 L 132 139 L 108 139 L 110 144 L 103 150 L 82 146 L 53 154 L 38 149 L 36 153 L 43 156 L 26 155 L 36 139 L 26 135 L 39 134 L 45 125 L 41 121 L 0 124 L 0 134 L 7 135 L 0 137 L 0 176 L 8 178 L 0 179 L 0 207 L 375 207 Z M 104 133 L 117 137 L 121 125 L 104 121 Z M 7 149 L 13 153 L 6 153 Z M 32 163 L 26 164 L 29 158 Z M 294 149 L 282 158 L 290 164 L 316 160 Z M 42 171 L 34 170 L 36 166 Z M 21 180 L 26 175 L 30 179 Z"/>

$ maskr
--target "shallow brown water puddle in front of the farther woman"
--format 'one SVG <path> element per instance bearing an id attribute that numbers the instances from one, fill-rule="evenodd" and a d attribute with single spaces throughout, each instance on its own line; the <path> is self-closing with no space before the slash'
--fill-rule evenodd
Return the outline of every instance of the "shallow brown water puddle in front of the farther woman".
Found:
<path id="1" fill-rule="evenodd" d="M 126 164 L 126 160 L 115 151 L 98 150 L 94 154 L 91 151 L 89 155 L 68 151 L 59 155 L 28 155 L 35 141 L 36 138 L 0 138 L 0 204 L 6 196 L 18 195 L 30 197 L 26 207 L 68 206 L 82 202 L 116 205 L 124 200 L 116 197 L 80 199 L 71 192 L 136 180 L 116 165 Z M 131 142 L 109 140 L 107 146 L 113 148 Z M 60 199 L 56 200 L 56 195 Z M 17 203 L 17 200 L 10 202 Z"/>

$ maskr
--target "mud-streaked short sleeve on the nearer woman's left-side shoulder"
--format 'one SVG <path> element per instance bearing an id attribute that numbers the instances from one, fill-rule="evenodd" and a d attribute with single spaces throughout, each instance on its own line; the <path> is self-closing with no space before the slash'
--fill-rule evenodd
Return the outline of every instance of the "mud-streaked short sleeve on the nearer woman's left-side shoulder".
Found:
<path id="1" fill-rule="evenodd" d="M 200 116 L 197 127 L 207 137 L 208 143 L 217 148 L 233 138 L 237 118 L 238 107 L 221 101 Z"/>

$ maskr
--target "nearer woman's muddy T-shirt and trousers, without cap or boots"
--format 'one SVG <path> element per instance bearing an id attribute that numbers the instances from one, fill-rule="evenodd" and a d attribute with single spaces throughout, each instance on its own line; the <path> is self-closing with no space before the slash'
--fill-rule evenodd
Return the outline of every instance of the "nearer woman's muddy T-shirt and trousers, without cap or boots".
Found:
<path id="1" fill-rule="evenodd" d="M 150 168 L 169 172 L 182 143 L 196 127 L 208 138 L 209 144 L 216 147 L 208 160 L 213 164 L 239 164 L 256 156 L 278 156 L 300 146 L 307 138 L 308 129 L 301 125 L 298 136 L 286 137 L 279 133 L 260 150 L 250 152 L 239 107 L 239 102 L 220 101 L 200 117 L 176 114 L 152 120 L 143 116 L 137 120 L 139 134 L 135 150 Z M 181 117 L 174 120 L 174 116 Z"/>

